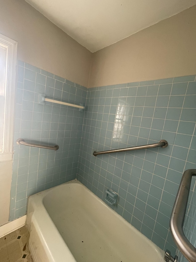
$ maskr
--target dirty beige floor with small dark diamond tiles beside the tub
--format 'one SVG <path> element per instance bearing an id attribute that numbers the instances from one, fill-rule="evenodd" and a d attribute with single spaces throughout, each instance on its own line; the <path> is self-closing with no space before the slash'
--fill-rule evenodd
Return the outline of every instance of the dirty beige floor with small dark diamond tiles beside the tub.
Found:
<path id="1" fill-rule="evenodd" d="M 0 262 L 33 262 L 28 239 L 26 226 L 0 238 Z"/>

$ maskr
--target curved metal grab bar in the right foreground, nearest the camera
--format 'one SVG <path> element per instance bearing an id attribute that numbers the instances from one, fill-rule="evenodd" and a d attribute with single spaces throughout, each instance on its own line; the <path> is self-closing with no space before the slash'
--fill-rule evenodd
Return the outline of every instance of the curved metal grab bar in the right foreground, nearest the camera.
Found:
<path id="1" fill-rule="evenodd" d="M 195 262 L 196 248 L 189 242 L 183 232 L 183 223 L 187 209 L 192 176 L 196 176 L 196 169 L 188 169 L 184 171 L 175 199 L 174 207 L 171 212 L 170 229 L 171 235 L 180 252 L 186 257 L 188 261 Z"/>

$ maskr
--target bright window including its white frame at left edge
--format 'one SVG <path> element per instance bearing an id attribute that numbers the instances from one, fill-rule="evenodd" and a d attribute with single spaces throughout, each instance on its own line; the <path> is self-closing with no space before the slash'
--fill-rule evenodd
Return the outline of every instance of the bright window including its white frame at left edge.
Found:
<path id="1" fill-rule="evenodd" d="M 0 161 L 12 159 L 17 42 L 0 34 Z"/>

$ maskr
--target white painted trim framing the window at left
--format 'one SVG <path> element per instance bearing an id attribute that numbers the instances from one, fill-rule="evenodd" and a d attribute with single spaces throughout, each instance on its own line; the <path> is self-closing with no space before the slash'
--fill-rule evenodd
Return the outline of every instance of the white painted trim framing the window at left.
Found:
<path id="1" fill-rule="evenodd" d="M 17 42 L 0 34 L 0 45 L 6 48 L 6 93 L 3 150 L 0 162 L 13 158 L 14 101 L 16 90 Z"/>

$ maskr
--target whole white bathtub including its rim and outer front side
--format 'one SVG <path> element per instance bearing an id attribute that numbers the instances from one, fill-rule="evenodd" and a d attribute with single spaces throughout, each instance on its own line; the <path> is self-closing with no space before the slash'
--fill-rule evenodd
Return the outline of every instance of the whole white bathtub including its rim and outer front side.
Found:
<path id="1" fill-rule="evenodd" d="M 79 181 L 28 200 L 34 262 L 164 262 L 164 252 Z"/>

